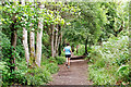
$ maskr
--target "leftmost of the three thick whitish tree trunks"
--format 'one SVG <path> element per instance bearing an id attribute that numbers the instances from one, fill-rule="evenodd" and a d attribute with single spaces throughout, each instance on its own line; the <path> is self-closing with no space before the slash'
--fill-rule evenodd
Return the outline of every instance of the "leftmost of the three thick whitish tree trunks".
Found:
<path id="1" fill-rule="evenodd" d="M 22 0 L 22 5 L 25 5 L 25 0 Z M 28 44 L 27 44 L 27 30 L 25 27 L 23 27 L 23 46 L 25 50 L 25 59 L 26 59 L 27 66 L 28 66 L 29 51 L 28 51 Z"/>

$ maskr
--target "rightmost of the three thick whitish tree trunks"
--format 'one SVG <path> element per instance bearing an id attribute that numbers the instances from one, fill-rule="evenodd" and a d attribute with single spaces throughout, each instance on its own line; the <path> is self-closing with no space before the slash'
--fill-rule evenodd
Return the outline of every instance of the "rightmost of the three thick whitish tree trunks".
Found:
<path id="1" fill-rule="evenodd" d="M 36 57 L 35 57 L 35 63 L 40 66 L 41 61 L 41 37 L 43 37 L 43 21 L 38 22 L 38 28 L 37 29 L 37 40 L 36 40 Z"/>

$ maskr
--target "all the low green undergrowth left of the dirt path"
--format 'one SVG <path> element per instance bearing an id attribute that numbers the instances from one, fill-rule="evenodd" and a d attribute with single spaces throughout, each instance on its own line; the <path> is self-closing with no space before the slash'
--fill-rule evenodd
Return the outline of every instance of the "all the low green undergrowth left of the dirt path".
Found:
<path id="1" fill-rule="evenodd" d="M 1 47 L 0 50 L 2 54 L 2 61 L 0 62 L 0 69 L 2 70 L 2 86 L 7 85 L 45 85 L 51 80 L 51 74 L 59 71 L 58 64 L 63 64 L 66 58 L 50 58 L 47 59 L 43 57 L 40 67 L 27 67 L 26 61 L 23 58 L 22 47 L 17 46 L 17 51 L 15 51 L 15 66 L 16 70 L 10 71 L 10 60 L 8 59 L 10 54 L 10 40 L 7 35 L 0 32 Z M 20 41 L 21 45 L 21 41 Z M 21 49 L 22 48 L 22 49 Z M 23 50 L 24 51 L 24 50 Z M 21 58 L 22 57 L 22 58 Z"/>

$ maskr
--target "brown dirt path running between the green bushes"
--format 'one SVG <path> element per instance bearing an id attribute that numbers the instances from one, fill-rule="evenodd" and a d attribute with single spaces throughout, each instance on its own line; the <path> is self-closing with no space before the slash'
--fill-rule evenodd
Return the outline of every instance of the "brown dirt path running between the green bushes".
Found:
<path id="1" fill-rule="evenodd" d="M 70 69 L 64 64 L 59 65 L 60 71 L 52 75 L 50 85 L 92 85 L 87 80 L 87 61 L 71 60 Z"/>

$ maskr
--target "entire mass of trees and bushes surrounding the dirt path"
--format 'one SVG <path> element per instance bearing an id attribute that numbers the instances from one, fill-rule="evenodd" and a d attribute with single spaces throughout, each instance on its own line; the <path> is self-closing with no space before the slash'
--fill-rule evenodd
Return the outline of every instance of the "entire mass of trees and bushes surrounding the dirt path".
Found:
<path id="1" fill-rule="evenodd" d="M 129 2 L 15 1 L 0 1 L 3 86 L 49 83 L 67 42 L 74 55 L 87 55 L 95 85 L 131 84 Z"/>

